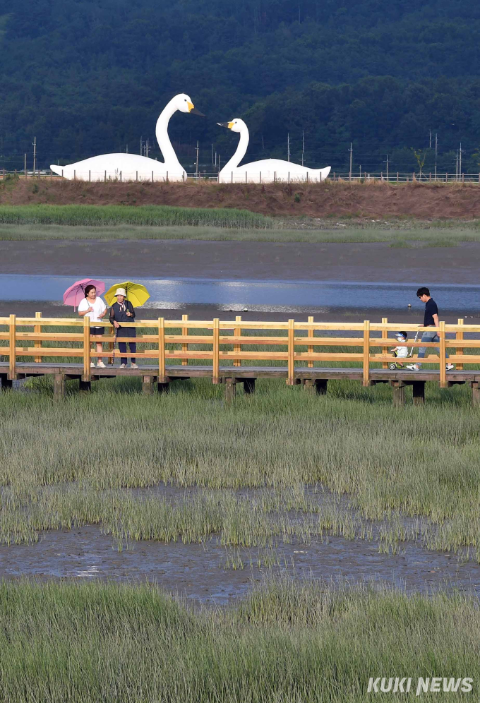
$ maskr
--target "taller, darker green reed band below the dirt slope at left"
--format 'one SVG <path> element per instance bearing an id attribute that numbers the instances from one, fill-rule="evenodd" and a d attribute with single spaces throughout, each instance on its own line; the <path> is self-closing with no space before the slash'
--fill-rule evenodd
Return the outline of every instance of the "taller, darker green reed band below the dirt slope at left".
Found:
<path id="1" fill-rule="evenodd" d="M 68 227 L 204 226 L 271 229 L 273 221 L 248 210 L 175 208 L 169 205 L 0 205 L 1 224 L 61 224 Z"/>

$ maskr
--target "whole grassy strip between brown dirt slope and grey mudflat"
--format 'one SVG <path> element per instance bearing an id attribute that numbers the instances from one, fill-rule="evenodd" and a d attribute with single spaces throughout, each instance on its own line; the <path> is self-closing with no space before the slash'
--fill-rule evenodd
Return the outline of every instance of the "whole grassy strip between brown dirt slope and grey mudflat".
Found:
<path id="1" fill-rule="evenodd" d="M 337 225 L 337 219 L 340 224 Z M 162 205 L 0 205 L 0 241 L 39 239 L 210 239 L 237 241 L 388 242 L 456 246 L 480 241 L 479 222 L 340 217 L 273 219 L 248 210 Z"/>

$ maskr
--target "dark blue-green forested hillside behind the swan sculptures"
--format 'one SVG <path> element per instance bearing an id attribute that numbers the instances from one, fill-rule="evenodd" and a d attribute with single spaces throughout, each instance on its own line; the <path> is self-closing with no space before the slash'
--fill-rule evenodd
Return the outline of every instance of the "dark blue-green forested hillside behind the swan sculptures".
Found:
<path id="1" fill-rule="evenodd" d="M 287 157 L 348 170 L 480 170 L 480 6 L 464 0 L 0 0 L 0 167 L 40 167 L 154 145 L 176 92 L 188 171 L 212 171 L 243 117 L 248 160 Z M 429 132 L 432 133 L 431 149 Z M 426 150 L 426 151 L 425 151 Z M 415 153 L 416 152 L 416 156 Z"/>

